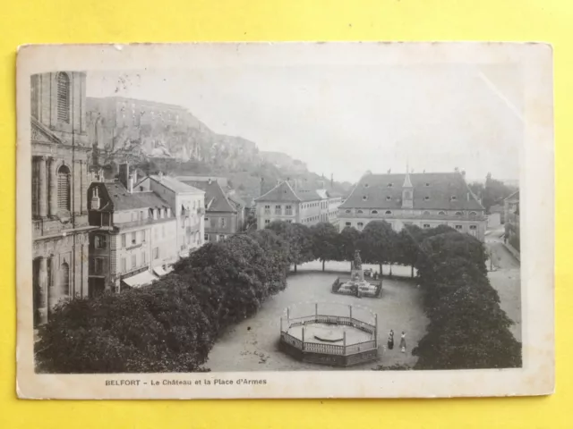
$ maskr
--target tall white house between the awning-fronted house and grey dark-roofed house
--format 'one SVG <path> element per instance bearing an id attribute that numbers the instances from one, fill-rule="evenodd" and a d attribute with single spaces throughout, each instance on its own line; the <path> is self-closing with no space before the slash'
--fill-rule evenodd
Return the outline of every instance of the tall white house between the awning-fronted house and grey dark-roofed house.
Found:
<path id="1" fill-rule="evenodd" d="M 205 191 L 164 174 L 150 175 L 137 183 L 138 191 L 153 191 L 166 200 L 177 221 L 178 257 L 200 248 L 205 235 Z"/>

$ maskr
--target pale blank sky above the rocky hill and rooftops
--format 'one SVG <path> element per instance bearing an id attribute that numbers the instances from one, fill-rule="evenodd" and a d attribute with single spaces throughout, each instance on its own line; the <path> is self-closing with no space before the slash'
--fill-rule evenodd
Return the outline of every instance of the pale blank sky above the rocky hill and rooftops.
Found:
<path id="1" fill-rule="evenodd" d="M 296 65 L 88 71 L 88 97 L 190 110 L 211 130 L 355 182 L 366 171 L 517 180 L 524 122 L 512 65 Z"/>

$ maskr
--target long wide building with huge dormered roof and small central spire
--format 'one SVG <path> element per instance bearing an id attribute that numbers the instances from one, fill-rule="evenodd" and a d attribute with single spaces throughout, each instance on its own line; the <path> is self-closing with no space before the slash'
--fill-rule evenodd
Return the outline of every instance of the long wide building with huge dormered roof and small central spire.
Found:
<path id="1" fill-rule="evenodd" d="M 484 240 L 485 209 L 469 189 L 465 172 L 406 172 L 363 175 L 338 207 L 340 228 L 363 230 L 383 220 L 400 231 L 404 225 L 448 225 Z"/>

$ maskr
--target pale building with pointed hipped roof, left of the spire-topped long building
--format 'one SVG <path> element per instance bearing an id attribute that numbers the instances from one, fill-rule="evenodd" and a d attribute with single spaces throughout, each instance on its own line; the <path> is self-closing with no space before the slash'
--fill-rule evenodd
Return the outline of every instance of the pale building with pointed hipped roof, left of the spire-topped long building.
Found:
<path id="1" fill-rule="evenodd" d="M 257 228 L 266 228 L 274 221 L 302 223 L 332 223 L 338 229 L 340 195 L 327 189 L 295 189 L 290 181 L 279 181 L 269 192 L 255 198 Z"/>

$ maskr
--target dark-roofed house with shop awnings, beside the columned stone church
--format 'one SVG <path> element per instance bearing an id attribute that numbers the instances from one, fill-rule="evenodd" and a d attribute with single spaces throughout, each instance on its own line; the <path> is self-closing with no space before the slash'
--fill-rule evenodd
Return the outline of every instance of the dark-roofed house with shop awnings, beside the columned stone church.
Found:
<path id="1" fill-rule="evenodd" d="M 90 297 L 150 284 L 178 258 L 170 204 L 134 181 L 123 164 L 119 181 L 90 186 Z"/>

